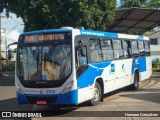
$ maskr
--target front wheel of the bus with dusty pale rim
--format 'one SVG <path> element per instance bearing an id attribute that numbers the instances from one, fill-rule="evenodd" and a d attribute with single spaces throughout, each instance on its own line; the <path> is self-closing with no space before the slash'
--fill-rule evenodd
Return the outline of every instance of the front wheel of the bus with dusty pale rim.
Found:
<path id="1" fill-rule="evenodd" d="M 95 106 L 100 103 L 102 97 L 101 87 L 98 82 L 95 83 L 94 87 L 94 98 L 92 98 L 89 102 L 92 106 Z"/>

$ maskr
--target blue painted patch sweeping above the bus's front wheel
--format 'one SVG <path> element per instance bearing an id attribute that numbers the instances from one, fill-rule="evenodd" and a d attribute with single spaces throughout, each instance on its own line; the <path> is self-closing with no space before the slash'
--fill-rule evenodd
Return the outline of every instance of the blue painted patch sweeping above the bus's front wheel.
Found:
<path id="1" fill-rule="evenodd" d="M 88 69 L 78 78 L 77 86 L 79 88 L 84 88 L 94 84 L 95 78 L 101 76 L 104 68 L 108 67 L 110 64 L 111 62 L 89 64 Z"/>

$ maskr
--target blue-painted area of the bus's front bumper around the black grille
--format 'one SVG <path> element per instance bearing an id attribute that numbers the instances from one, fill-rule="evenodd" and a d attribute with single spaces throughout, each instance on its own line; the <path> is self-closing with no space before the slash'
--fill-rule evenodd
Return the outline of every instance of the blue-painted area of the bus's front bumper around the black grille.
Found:
<path id="1" fill-rule="evenodd" d="M 78 104 L 78 91 L 73 90 L 64 94 L 42 94 L 42 95 L 35 95 L 35 94 L 20 94 L 17 92 L 17 101 L 19 104 L 35 104 L 31 103 L 27 100 L 26 96 L 29 97 L 40 97 L 44 99 L 45 97 L 57 97 L 57 100 L 50 104 Z"/>

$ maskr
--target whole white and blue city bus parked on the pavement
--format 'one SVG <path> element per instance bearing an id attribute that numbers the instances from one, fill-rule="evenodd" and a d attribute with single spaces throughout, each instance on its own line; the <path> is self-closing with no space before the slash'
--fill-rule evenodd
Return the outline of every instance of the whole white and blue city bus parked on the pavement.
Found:
<path id="1" fill-rule="evenodd" d="M 19 104 L 97 105 L 116 89 L 136 90 L 151 73 L 148 37 L 65 27 L 19 36 Z"/>

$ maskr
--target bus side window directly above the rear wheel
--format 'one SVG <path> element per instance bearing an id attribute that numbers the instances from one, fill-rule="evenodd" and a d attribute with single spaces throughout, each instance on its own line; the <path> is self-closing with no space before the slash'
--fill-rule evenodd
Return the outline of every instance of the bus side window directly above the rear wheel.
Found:
<path id="1" fill-rule="evenodd" d="M 131 48 L 132 48 L 132 56 L 133 57 L 138 57 L 139 56 L 139 52 L 138 52 L 137 41 L 131 41 Z"/>

